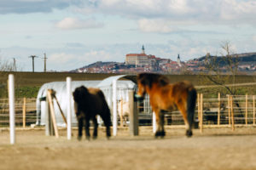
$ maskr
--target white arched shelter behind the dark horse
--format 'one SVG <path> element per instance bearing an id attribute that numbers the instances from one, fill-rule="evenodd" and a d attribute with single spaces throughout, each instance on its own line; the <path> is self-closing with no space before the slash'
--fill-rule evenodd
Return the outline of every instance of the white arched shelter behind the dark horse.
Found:
<path id="1" fill-rule="evenodd" d="M 109 109 L 112 111 L 113 121 L 113 135 L 117 133 L 117 102 L 120 99 L 128 101 L 128 90 L 136 88 L 136 84 L 130 80 L 119 80 L 126 75 L 119 75 L 115 77 L 108 77 L 102 81 L 73 81 L 71 82 L 72 92 L 75 88 L 85 86 L 86 88 L 100 88 L 102 89 L 105 99 L 108 102 Z M 56 99 L 61 105 L 61 110 L 67 117 L 67 82 L 48 82 L 45 83 L 38 91 L 37 97 L 37 125 L 45 125 L 45 101 L 40 99 L 46 96 L 47 89 L 55 90 Z M 71 114 L 73 126 L 77 124 L 77 118 L 74 113 L 73 98 L 72 98 Z M 59 127 L 66 127 L 63 121 L 61 111 L 59 110 L 54 99 L 54 109 L 56 122 Z"/>

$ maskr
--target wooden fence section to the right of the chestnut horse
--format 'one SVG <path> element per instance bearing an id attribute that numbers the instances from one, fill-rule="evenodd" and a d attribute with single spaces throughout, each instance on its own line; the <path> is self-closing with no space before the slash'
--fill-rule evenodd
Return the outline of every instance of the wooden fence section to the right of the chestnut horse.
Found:
<path id="1" fill-rule="evenodd" d="M 203 127 L 255 126 L 255 95 L 226 95 L 217 99 L 203 99 L 198 94 L 197 117 Z"/>

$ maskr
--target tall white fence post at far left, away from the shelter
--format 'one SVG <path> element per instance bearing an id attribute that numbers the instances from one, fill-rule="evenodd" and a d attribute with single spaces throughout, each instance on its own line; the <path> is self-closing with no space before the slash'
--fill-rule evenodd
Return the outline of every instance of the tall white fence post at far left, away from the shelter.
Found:
<path id="1" fill-rule="evenodd" d="M 15 77 L 9 75 L 9 136 L 10 144 L 15 144 Z"/>

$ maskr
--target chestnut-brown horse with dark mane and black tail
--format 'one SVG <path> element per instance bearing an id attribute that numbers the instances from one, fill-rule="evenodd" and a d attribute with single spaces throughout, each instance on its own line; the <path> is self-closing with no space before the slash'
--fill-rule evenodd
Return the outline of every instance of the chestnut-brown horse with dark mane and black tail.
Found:
<path id="1" fill-rule="evenodd" d="M 181 111 L 186 125 L 186 135 L 192 136 L 195 114 L 196 90 L 190 82 L 171 84 L 167 77 L 159 74 L 141 73 L 137 76 L 138 91 L 136 97 L 143 99 L 149 95 L 150 105 L 154 111 L 157 131 L 155 137 L 164 137 L 165 111 Z"/>

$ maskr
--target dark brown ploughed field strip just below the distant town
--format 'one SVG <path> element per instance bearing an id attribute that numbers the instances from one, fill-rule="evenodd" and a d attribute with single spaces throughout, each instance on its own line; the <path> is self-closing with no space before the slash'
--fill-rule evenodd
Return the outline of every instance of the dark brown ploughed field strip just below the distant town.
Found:
<path id="1" fill-rule="evenodd" d="M 69 72 L 11 72 L 15 75 L 15 82 L 19 86 L 42 86 L 45 82 L 66 81 L 66 77 L 72 77 L 74 81 L 103 80 L 104 78 L 116 76 L 117 74 L 102 73 L 69 73 Z M 2 73 L 1 82 L 6 82 L 9 72 Z M 205 84 L 200 75 L 166 75 L 171 82 L 188 80 L 195 85 Z M 136 75 L 131 75 L 136 80 Z M 236 83 L 256 82 L 256 76 L 236 76 Z M 231 82 L 230 82 L 231 83 Z M 210 84 L 210 83 L 207 83 Z"/>

